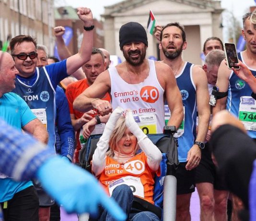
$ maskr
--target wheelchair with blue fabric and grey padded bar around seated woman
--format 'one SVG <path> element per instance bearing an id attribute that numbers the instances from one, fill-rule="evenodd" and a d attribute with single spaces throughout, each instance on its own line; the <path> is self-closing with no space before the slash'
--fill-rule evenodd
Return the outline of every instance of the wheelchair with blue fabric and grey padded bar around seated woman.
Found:
<path id="1" fill-rule="evenodd" d="M 177 181 L 174 176 L 177 168 L 178 153 L 176 140 L 173 137 L 175 129 L 165 127 L 164 133 L 147 134 L 152 143 L 162 152 L 161 175 L 155 176 L 155 187 L 153 201 L 156 206 L 162 209 L 161 221 L 175 221 L 176 219 L 176 186 Z M 82 147 L 79 155 L 81 167 L 91 172 L 91 160 L 97 147 L 97 143 L 102 134 L 91 135 L 87 143 Z M 88 218 L 87 218 L 88 219 Z M 86 221 L 86 219 L 79 219 Z"/>

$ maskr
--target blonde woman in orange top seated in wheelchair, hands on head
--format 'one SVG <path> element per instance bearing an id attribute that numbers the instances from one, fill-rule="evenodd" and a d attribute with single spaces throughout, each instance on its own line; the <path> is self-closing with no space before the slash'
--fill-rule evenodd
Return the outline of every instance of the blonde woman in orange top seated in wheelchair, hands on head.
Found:
<path id="1" fill-rule="evenodd" d="M 161 151 L 142 132 L 131 110 L 117 107 L 93 154 L 92 171 L 128 221 L 159 221 L 162 210 L 154 205 L 153 188 L 161 160 Z M 105 220 L 114 219 L 104 210 L 99 221 Z"/>

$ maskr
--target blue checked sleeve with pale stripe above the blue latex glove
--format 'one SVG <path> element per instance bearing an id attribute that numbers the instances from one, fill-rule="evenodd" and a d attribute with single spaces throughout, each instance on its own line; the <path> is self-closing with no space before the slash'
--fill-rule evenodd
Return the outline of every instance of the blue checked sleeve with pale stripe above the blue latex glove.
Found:
<path id="1" fill-rule="evenodd" d="M 38 168 L 55 155 L 52 148 L 14 129 L 2 118 L 0 128 L 4 128 L 0 130 L 0 172 L 9 177 L 18 181 L 34 178 Z"/>

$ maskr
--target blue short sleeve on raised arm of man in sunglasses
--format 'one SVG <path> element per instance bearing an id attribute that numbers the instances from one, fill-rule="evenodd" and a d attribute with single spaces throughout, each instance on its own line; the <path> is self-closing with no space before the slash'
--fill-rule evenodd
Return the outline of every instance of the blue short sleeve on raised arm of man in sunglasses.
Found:
<path id="1" fill-rule="evenodd" d="M 61 80 L 69 76 L 67 73 L 67 59 L 47 65 L 46 70 L 54 88 L 57 87 Z"/>

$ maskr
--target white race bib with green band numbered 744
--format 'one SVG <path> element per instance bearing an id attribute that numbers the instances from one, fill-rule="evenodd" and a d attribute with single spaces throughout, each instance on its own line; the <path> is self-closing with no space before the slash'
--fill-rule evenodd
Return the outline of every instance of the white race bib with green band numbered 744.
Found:
<path id="1" fill-rule="evenodd" d="M 238 119 L 247 131 L 256 131 L 256 101 L 250 96 L 240 98 Z"/>

